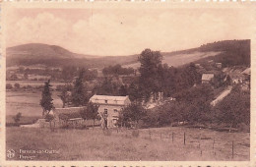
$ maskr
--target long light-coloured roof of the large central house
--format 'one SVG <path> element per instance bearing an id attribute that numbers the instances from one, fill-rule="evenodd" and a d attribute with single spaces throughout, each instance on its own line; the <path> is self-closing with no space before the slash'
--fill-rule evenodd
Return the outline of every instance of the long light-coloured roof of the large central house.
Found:
<path id="1" fill-rule="evenodd" d="M 125 105 L 130 103 L 129 96 L 94 95 L 90 101 L 99 104 Z"/>

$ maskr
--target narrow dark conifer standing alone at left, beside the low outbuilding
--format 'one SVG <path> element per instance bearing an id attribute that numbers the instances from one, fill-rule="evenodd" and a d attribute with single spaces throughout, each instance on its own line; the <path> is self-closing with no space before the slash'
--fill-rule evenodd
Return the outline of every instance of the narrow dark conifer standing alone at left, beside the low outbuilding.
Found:
<path id="1" fill-rule="evenodd" d="M 51 109 L 54 108 L 53 105 L 53 99 L 51 98 L 51 87 L 52 85 L 50 84 L 50 80 L 48 82 L 44 83 L 43 90 L 41 92 L 41 100 L 40 100 L 40 105 L 42 107 L 42 116 L 45 116 L 50 112 Z"/>

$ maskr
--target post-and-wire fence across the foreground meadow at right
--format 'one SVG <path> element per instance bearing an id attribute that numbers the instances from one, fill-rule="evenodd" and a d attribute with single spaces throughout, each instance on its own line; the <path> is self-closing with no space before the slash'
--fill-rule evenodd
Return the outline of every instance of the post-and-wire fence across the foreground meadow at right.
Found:
<path id="1" fill-rule="evenodd" d="M 129 138 L 141 138 L 152 141 L 163 141 L 178 146 L 193 146 L 201 156 L 211 153 L 219 156 L 224 153 L 229 159 L 245 158 L 250 156 L 250 144 L 242 140 L 218 139 L 215 136 L 189 132 L 161 132 L 149 130 L 112 129 L 111 134 Z"/>

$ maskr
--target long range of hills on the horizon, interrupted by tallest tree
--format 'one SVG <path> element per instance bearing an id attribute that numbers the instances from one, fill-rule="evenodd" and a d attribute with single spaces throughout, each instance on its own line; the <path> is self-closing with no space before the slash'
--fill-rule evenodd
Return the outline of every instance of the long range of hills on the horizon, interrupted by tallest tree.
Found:
<path id="1" fill-rule="evenodd" d="M 224 67 L 250 66 L 250 40 L 224 40 L 207 43 L 197 48 L 161 52 L 161 54 L 163 63 L 174 67 L 209 59 L 223 63 Z M 43 64 L 61 67 L 72 64 L 78 67 L 102 68 L 120 64 L 124 67 L 138 68 L 140 66 L 138 55 L 100 57 L 73 53 L 56 45 L 30 43 L 7 48 L 7 66 Z"/>

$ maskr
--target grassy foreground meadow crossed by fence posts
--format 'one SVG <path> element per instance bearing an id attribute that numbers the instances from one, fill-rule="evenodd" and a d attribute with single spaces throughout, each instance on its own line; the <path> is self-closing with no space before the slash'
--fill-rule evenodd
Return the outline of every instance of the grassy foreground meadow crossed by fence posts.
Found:
<path id="1" fill-rule="evenodd" d="M 6 131 L 7 149 L 18 152 L 12 160 L 250 159 L 248 133 L 224 133 L 181 127 L 139 130 L 139 137 L 132 135 L 136 134 L 134 130 L 111 130 L 103 134 L 99 128 L 57 129 L 51 132 L 49 129 L 10 127 Z M 47 153 L 19 153 L 20 149 L 47 150 Z"/>

